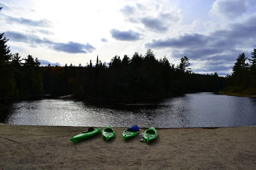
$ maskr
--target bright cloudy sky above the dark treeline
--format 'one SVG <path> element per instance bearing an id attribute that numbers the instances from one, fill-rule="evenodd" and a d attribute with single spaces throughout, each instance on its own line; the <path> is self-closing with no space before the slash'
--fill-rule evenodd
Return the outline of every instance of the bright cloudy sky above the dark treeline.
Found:
<path id="1" fill-rule="evenodd" d="M 256 46 L 256 0 L 2 0 L 12 53 L 41 64 L 86 65 L 151 48 L 197 73 L 230 74 Z"/>

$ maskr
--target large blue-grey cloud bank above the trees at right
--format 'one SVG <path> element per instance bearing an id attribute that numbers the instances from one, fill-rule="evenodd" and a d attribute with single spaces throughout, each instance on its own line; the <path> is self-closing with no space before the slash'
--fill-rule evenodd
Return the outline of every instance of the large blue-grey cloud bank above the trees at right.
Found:
<path id="1" fill-rule="evenodd" d="M 231 23 L 227 29 L 219 29 L 208 34 L 183 34 L 165 39 L 153 39 L 145 43 L 146 48 L 171 50 L 171 57 L 188 57 L 195 63 L 195 72 L 229 73 L 236 58 L 244 52 L 250 56 L 248 48 L 256 46 L 256 14 L 240 23 Z"/>

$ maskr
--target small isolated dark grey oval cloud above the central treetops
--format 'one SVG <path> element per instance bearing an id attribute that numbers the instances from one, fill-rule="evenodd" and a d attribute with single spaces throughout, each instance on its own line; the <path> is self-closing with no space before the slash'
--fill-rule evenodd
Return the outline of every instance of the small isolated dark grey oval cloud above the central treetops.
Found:
<path id="1" fill-rule="evenodd" d="M 117 29 L 111 29 L 110 33 L 114 39 L 120 41 L 137 41 L 143 39 L 143 34 L 132 31 L 131 29 L 129 29 L 128 31 L 119 31 Z"/>

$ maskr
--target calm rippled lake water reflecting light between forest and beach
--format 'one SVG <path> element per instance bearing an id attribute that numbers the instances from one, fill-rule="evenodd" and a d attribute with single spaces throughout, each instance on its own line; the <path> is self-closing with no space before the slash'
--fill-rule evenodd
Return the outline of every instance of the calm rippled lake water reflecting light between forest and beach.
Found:
<path id="1" fill-rule="evenodd" d="M 0 122 L 96 127 L 252 126 L 256 125 L 256 99 L 198 93 L 158 102 L 104 106 L 70 99 L 2 102 Z"/>

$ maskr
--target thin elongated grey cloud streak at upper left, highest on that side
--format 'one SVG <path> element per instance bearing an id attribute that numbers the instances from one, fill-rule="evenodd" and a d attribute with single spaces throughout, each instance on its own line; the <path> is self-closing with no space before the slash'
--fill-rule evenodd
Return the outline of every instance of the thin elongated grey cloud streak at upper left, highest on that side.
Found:
<path id="1" fill-rule="evenodd" d="M 5 19 L 8 21 L 8 23 L 18 23 L 22 25 L 27 25 L 27 26 L 38 26 L 38 27 L 52 27 L 53 24 L 49 20 L 42 19 L 42 20 L 30 20 L 26 18 L 16 18 L 16 17 L 11 17 L 8 15 L 3 14 Z"/>

